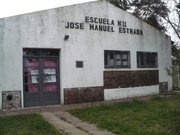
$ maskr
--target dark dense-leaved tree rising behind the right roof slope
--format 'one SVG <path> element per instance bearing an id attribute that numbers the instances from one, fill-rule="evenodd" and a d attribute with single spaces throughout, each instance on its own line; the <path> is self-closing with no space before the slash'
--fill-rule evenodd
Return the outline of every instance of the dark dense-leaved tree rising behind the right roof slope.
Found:
<path id="1" fill-rule="evenodd" d="M 134 16 L 142 19 L 159 30 L 165 30 L 160 24 L 158 14 L 167 12 L 167 8 L 161 0 L 107 0 L 115 6 L 131 12 Z"/>

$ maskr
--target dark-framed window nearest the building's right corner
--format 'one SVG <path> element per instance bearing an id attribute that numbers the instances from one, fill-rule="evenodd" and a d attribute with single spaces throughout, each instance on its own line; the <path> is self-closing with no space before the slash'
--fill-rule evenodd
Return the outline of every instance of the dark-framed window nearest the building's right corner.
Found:
<path id="1" fill-rule="evenodd" d="M 156 68 L 157 53 L 155 52 L 137 52 L 138 68 Z"/>

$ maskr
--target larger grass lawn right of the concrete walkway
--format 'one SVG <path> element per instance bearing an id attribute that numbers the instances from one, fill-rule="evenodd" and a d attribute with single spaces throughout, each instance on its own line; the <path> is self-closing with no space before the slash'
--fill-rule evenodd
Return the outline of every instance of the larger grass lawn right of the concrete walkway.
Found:
<path id="1" fill-rule="evenodd" d="M 118 135 L 180 135 L 180 95 L 69 110 Z"/>

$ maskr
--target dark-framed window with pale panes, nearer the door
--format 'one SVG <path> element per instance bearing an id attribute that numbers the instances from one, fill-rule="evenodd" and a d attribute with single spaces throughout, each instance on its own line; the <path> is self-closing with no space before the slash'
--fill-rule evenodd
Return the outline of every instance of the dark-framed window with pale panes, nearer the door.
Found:
<path id="1" fill-rule="evenodd" d="M 104 51 L 105 68 L 129 68 L 129 51 Z"/>

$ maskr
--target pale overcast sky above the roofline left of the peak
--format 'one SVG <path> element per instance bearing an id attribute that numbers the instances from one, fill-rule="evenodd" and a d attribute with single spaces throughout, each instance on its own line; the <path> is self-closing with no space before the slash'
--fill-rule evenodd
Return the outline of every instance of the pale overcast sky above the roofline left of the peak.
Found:
<path id="1" fill-rule="evenodd" d="M 0 0 L 0 18 L 96 0 Z"/>

